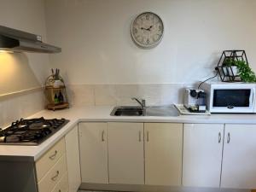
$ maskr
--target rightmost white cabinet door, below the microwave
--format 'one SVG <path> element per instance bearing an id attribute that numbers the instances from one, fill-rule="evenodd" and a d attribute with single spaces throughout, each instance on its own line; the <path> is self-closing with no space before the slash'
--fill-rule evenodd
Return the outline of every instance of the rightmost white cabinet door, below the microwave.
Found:
<path id="1" fill-rule="evenodd" d="M 256 125 L 225 125 L 221 187 L 256 189 Z"/>

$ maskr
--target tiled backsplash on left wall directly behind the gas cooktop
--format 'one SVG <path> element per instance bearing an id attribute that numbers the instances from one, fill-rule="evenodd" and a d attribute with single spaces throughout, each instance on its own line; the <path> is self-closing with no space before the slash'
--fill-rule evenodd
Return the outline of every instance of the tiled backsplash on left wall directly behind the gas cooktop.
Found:
<path id="1" fill-rule="evenodd" d="M 44 109 L 43 90 L 0 98 L 0 128 Z"/>

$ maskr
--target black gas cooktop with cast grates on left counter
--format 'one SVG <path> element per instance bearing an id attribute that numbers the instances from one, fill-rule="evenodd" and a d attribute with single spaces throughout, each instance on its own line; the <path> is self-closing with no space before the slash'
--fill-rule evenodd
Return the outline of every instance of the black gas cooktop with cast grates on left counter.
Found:
<path id="1" fill-rule="evenodd" d="M 38 145 L 59 131 L 67 119 L 20 119 L 6 129 L 0 129 L 0 144 Z"/>

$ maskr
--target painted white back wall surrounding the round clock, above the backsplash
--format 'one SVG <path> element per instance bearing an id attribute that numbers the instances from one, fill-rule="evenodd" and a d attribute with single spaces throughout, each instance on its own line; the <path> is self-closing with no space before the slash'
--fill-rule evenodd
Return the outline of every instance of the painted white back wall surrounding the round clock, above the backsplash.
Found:
<path id="1" fill-rule="evenodd" d="M 46 0 L 50 61 L 69 84 L 191 83 L 212 75 L 224 49 L 246 49 L 256 70 L 254 0 Z M 165 24 L 149 50 L 131 41 L 131 21 L 144 11 Z"/>

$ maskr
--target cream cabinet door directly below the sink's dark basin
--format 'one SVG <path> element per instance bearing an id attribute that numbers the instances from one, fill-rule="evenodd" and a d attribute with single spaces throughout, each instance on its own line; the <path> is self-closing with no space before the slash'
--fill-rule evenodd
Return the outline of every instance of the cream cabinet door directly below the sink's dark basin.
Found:
<path id="1" fill-rule="evenodd" d="M 143 123 L 108 123 L 109 183 L 143 184 Z"/>

